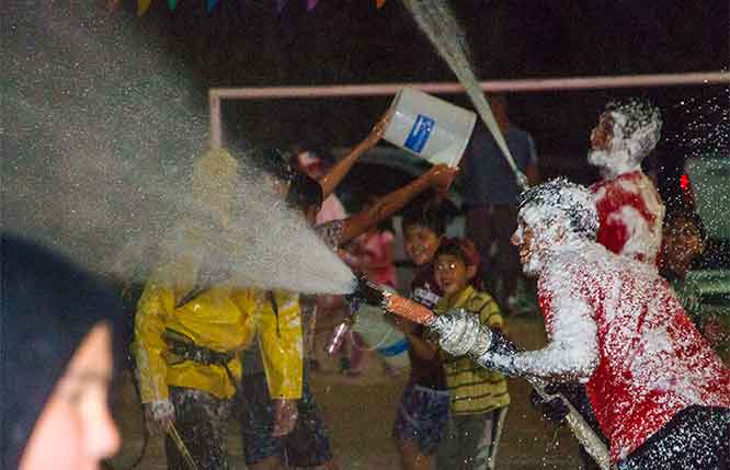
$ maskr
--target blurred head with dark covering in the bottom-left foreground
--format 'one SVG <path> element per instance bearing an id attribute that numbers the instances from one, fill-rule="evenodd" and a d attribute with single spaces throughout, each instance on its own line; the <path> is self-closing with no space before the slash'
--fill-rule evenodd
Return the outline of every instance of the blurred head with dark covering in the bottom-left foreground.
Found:
<path id="1" fill-rule="evenodd" d="M 121 444 L 107 397 L 118 296 L 33 243 L 0 243 L 0 467 L 98 469 Z"/>

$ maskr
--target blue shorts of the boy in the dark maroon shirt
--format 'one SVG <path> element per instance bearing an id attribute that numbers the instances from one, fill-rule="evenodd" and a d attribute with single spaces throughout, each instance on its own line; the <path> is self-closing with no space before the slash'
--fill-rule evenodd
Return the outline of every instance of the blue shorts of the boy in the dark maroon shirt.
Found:
<path id="1" fill-rule="evenodd" d="M 423 455 L 435 454 L 448 422 L 448 391 L 409 383 L 398 406 L 393 437 L 414 442 Z"/>

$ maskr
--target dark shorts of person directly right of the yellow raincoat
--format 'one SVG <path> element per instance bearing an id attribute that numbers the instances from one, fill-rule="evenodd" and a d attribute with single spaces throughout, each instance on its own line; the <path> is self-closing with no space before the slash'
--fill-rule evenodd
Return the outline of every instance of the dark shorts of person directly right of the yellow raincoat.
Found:
<path id="1" fill-rule="evenodd" d="M 297 404 L 299 416 L 292 433 L 283 437 L 271 435 L 274 427 L 274 402 L 269 396 L 266 376 L 244 376 L 241 392 L 241 434 L 247 465 L 272 456 L 280 456 L 293 467 L 318 467 L 332 460 L 327 428 L 317 411 L 307 374 L 301 399 Z"/>

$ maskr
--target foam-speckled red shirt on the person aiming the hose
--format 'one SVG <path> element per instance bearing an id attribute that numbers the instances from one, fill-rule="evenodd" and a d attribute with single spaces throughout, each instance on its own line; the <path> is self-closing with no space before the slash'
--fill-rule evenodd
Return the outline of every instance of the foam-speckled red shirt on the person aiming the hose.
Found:
<path id="1" fill-rule="evenodd" d="M 598 362 L 586 391 L 614 462 L 689 405 L 730 408 L 730 370 L 653 266 L 584 243 L 550 261 L 538 294 L 548 337 L 589 307 Z"/>

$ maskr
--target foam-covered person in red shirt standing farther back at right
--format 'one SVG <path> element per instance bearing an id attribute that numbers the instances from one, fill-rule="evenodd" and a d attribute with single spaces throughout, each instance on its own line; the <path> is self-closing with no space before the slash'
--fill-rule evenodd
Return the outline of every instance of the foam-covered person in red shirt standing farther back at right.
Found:
<path id="1" fill-rule="evenodd" d="M 641 161 L 660 138 L 659 110 L 647 102 L 612 102 L 591 133 L 589 163 L 602 180 L 591 186 L 598 209 L 598 243 L 616 254 L 655 264 L 664 205 Z"/>

